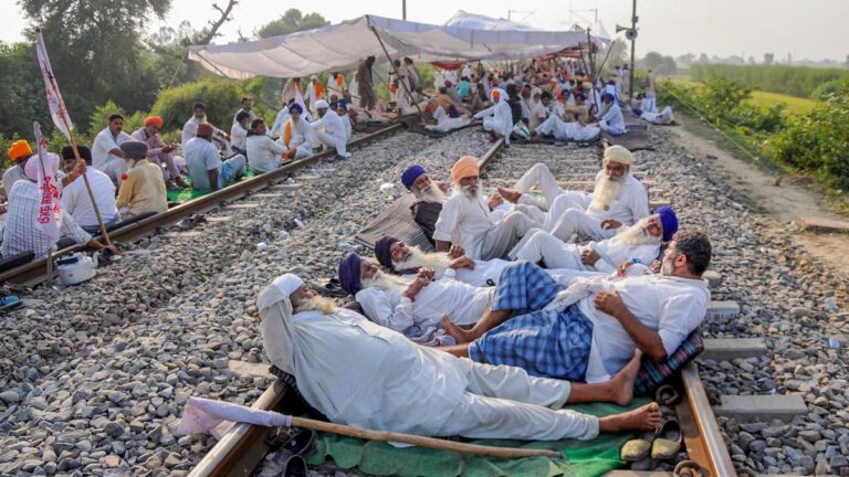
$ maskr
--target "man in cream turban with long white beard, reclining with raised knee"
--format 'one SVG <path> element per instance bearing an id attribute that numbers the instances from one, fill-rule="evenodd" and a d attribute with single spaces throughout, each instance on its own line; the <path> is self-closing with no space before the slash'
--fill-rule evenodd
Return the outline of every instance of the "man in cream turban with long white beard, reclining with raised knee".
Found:
<path id="1" fill-rule="evenodd" d="M 542 229 L 564 242 L 577 234 L 580 241 L 604 240 L 649 216 L 649 194 L 631 173 L 633 155 L 621 146 L 605 149 L 604 169 L 596 174 L 593 193 L 564 191 L 544 163 L 534 165 L 515 189 L 499 189 L 509 202 L 536 205 L 548 214 Z M 543 198 L 527 192 L 538 186 Z"/>

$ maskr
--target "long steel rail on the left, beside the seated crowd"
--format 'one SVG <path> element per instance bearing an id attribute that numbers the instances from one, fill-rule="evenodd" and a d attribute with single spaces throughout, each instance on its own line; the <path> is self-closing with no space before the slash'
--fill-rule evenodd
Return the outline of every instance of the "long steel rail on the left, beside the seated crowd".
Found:
<path id="1" fill-rule="evenodd" d="M 385 136 L 398 132 L 402 128 L 403 128 L 402 125 L 395 124 L 392 126 L 386 127 L 384 129 L 380 129 L 378 131 L 371 132 L 367 136 L 364 136 L 361 138 L 350 141 L 348 144 L 348 148 L 356 149 L 356 148 L 365 147 L 371 142 L 382 139 Z M 208 212 L 212 209 L 216 209 L 222 202 L 241 199 L 251 193 L 266 189 L 270 186 L 274 184 L 275 182 L 284 180 L 286 178 L 286 174 L 289 174 L 290 172 L 293 172 L 303 167 L 318 162 L 322 159 L 333 157 L 334 155 L 335 155 L 334 150 L 327 150 L 324 152 L 310 156 L 304 159 L 294 160 L 277 169 L 274 169 L 273 171 L 265 172 L 260 176 L 255 176 L 253 178 L 243 180 L 241 182 L 237 182 L 232 186 L 228 186 L 226 188 L 222 188 L 218 191 L 214 191 L 201 198 L 177 205 L 172 209 L 169 209 L 166 212 L 128 224 L 120 229 L 116 229 L 109 232 L 109 236 L 113 239 L 113 241 L 132 242 L 134 240 L 138 240 L 147 234 L 155 233 L 156 230 L 159 227 L 179 222 L 180 220 L 187 216 Z M 74 246 L 55 252 L 53 254 L 53 258 L 55 259 L 63 255 L 72 254 L 74 252 L 80 252 L 84 250 L 86 250 L 85 245 L 74 245 Z M 38 285 L 48 278 L 46 264 L 48 264 L 46 258 L 39 258 L 25 265 L 21 265 L 19 267 L 7 271 L 0 274 L 0 283 L 8 282 L 9 284 L 17 285 L 17 286 Z"/>

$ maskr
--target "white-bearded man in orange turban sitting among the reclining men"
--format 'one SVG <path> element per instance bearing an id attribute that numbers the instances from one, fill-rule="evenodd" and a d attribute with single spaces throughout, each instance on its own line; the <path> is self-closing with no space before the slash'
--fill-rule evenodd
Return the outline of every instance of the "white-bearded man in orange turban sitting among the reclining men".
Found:
<path id="1" fill-rule="evenodd" d="M 478 159 L 463 156 L 451 168 L 454 192 L 442 205 L 433 240 L 438 252 L 460 245 L 471 258 L 504 258 L 537 223 L 521 211 L 493 222 L 480 181 Z"/>

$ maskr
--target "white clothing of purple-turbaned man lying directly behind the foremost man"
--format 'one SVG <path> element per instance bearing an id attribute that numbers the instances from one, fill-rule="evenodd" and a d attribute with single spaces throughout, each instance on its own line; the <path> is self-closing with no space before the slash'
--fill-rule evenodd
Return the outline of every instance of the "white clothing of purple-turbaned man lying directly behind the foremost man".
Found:
<path id="1" fill-rule="evenodd" d="M 390 289 L 364 288 L 356 294 L 366 316 L 374 322 L 408 336 L 430 327 L 442 327 L 442 314 L 458 325 L 474 325 L 490 307 L 495 288 L 476 288 L 446 275 L 416 295 L 403 296 L 405 285 Z"/>

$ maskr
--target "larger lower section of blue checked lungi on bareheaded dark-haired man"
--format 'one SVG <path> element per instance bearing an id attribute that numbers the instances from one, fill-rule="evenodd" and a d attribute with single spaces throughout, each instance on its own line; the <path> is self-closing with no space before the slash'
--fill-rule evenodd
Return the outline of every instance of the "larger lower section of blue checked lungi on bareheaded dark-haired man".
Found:
<path id="1" fill-rule="evenodd" d="M 522 368 L 539 378 L 581 381 L 591 342 L 593 321 L 576 304 L 504 321 L 469 346 L 469 358 Z"/>

